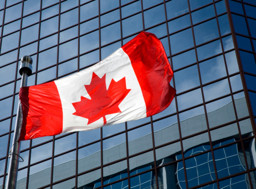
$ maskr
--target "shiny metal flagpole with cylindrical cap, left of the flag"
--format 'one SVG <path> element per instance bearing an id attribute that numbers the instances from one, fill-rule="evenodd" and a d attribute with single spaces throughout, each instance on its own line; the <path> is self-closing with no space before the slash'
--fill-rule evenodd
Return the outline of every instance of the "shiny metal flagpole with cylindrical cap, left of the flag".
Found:
<path id="1" fill-rule="evenodd" d="M 30 56 L 23 56 L 21 58 L 21 65 L 20 65 L 20 74 L 22 75 L 21 78 L 21 87 L 27 86 L 28 76 L 32 73 L 32 63 L 33 60 Z M 10 150 L 9 158 L 10 164 L 8 168 L 8 178 L 7 178 L 7 189 L 15 189 L 17 183 L 17 176 L 18 176 L 18 166 L 19 166 L 19 157 L 20 157 L 20 127 L 21 123 L 21 109 L 20 109 L 20 101 L 18 105 L 17 115 L 16 115 L 16 123 L 14 128 L 14 135 L 13 135 L 13 142 L 12 148 Z"/>

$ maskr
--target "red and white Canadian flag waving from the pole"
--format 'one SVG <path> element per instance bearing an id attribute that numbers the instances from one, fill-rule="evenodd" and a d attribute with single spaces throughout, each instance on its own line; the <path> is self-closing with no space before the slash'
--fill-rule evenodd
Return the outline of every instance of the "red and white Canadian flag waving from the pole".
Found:
<path id="1" fill-rule="evenodd" d="M 66 78 L 22 87 L 19 140 L 148 117 L 166 109 L 176 93 L 160 40 L 141 32 L 103 61 Z"/>

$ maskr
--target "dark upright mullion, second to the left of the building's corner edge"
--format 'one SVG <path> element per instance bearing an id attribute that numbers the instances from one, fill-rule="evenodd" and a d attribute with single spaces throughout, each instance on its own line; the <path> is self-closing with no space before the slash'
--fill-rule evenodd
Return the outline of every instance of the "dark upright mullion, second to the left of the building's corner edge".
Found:
<path id="1" fill-rule="evenodd" d="M 209 121 L 208 121 L 208 116 L 207 116 L 206 101 L 205 101 L 205 99 L 204 99 L 203 87 L 202 87 L 202 80 L 201 80 L 201 73 L 200 73 L 200 68 L 199 68 L 199 63 L 198 63 L 197 45 L 196 45 L 196 43 L 195 43 L 195 36 L 194 36 L 194 29 L 193 29 L 193 22 L 192 22 L 192 15 L 191 15 L 191 8 L 190 8 L 190 2 L 189 2 L 189 0 L 187 0 L 187 3 L 189 4 L 189 14 L 190 14 L 191 30 L 192 30 L 192 36 L 193 36 L 194 47 L 195 47 L 195 57 L 196 57 L 196 59 L 197 59 L 197 65 L 198 65 L 198 75 L 199 75 L 200 88 L 201 88 L 201 95 L 202 95 L 202 100 L 203 100 L 204 114 L 205 114 L 205 116 L 206 116 L 207 132 L 208 132 L 209 143 L 210 143 L 210 148 L 211 148 L 212 163 L 214 164 L 214 170 L 215 170 L 215 177 L 216 177 L 217 187 L 219 187 L 218 174 L 217 174 L 217 168 L 216 168 L 215 157 L 214 157 L 214 150 L 213 150 L 213 148 L 212 148 L 211 135 L 210 135 L 210 130 L 209 130 L 209 129 L 210 129 L 210 126 L 209 126 Z M 217 16 L 217 15 L 215 15 L 215 16 Z M 219 37 L 219 39 L 220 39 L 220 37 Z"/>

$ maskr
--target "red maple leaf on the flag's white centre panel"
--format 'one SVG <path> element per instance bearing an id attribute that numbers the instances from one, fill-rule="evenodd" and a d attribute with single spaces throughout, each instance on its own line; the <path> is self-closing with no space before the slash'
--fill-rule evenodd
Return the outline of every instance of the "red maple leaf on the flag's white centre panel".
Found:
<path id="1" fill-rule="evenodd" d="M 89 119 L 88 124 L 103 117 L 105 125 L 107 123 L 106 115 L 121 113 L 118 105 L 131 90 L 126 89 L 125 77 L 117 82 L 112 79 L 107 90 L 106 74 L 99 78 L 94 72 L 91 83 L 84 87 L 86 87 L 91 100 L 81 96 L 81 101 L 72 103 L 76 110 L 73 115 Z"/>

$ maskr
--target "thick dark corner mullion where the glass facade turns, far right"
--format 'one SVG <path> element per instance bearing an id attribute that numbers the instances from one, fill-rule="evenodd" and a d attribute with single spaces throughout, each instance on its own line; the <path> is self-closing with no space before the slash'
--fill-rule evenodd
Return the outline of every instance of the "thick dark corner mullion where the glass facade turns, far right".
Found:
<path id="1" fill-rule="evenodd" d="M 255 128 L 256 124 L 255 124 L 255 120 L 254 120 L 254 116 L 253 116 L 253 111 L 252 111 L 252 107 L 251 107 L 251 100 L 250 100 L 250 97 L 249 97 L 248 88 L 247 88 L 247 85 L 246 85 L 246 82 L 245 82 L 245 76 L 244 76 L 242 61 L 241 61 L 240 52 L 238 50 L 238 45 L 237 45 L 237 41 L 236 41 L 236 37 L 235 37 L 235 29 L 234 29 L 234 26 L 233 26 L 233 19 L 232 19 L 231 11 L 230 11 L 230 8 L 229 8 L 228 0 L 225 0 L 225 4 L 226 4 L 226 9 L 227 9 L 229 26 L 231 28 L 231 34 L 232 34 L 232 38 L 233 38 L 233 42 L 234 42 L 237 64 L 238 64 L 238 67 L 239 67 L 239 70 L 240 70 L 241 80 L 242 80 L 242 84 L 243 84 L 245 100 L 246 100 L 249 115 L 250 115 L 250 118 L 251 118 L 253 135 L 255 136 L 255 134 L 256 134 L 256 128 Z"/>

